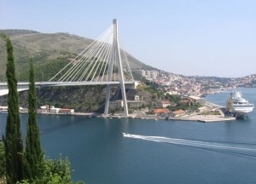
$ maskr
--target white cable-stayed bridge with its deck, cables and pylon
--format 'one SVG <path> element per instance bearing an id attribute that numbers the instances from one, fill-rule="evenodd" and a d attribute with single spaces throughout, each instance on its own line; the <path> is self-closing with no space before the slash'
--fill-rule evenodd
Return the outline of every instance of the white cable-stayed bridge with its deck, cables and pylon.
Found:
<path id="1" fill-rule="evenodd" d="M 57 72 L 48 82 L 37 82 L 37 87 L 73 86 L 73 85 L 107 85 L 105 114 L 108 114 L 110 89 L 119 85 L 124 104 L 124 115 L 128 116 L 125 86 L 134 85 L 135 81 L 125 55 L 121 59 L 119 49 L 118 22 L 103 32 L 93 43 L 71 60 L 67 66 Z M 18 91 L 28 89 L 28 82 L 19 82 Z M 0 95 L 8 94 L 7 83 L 0 83 Z"/>

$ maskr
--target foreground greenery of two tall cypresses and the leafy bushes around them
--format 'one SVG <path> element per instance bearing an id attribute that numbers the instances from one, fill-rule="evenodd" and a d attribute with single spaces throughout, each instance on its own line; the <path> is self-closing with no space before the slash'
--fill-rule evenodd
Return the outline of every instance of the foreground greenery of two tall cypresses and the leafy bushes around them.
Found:
<path id="1" fill-rule="evenodd" d="M 20 130 L 19 99 L 17 80 L 15 78 L 15 61 L 12 43 L 6 39 L 8 62 L 6 76 L 8 79 L 9 113 L 7 117 L 5 136 L 0 143 L 0 173 L 6 175 L 7 183 L 55 183 L 72 184 L 72 171 L 66 158 L 57 160 L 45 159 L 40 146 L 40 135 L 37 124 L 37 100 L 32 60 L 29 71 L 29 118 L 27 123 L 26 149 L 23 149 Z M 4 149 L 3 149 L 4 147 Z M 3 159 L 5 158 L 5 159 Z M 78 184 L 84 183 L 82 181 Z"/>

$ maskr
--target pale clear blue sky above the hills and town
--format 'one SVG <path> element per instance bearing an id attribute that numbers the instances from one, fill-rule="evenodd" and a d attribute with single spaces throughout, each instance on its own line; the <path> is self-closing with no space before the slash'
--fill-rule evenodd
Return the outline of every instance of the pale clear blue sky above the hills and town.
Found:
<path id="1" fill-rule="evenodd" d="M 119 23 L 122 49 L 185 76 L 256 74 L 255 0 L 0 0 L 0 29 L 96 39 Z"/>

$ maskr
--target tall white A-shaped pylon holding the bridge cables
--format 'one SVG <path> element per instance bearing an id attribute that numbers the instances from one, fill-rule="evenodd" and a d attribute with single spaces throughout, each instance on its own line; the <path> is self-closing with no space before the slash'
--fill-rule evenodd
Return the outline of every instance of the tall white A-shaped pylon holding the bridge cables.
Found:
<path id="1" fill-rule="evenodd" d="M 123 100 L 123 106 L 124 106 L 124 116 L 128 117 L 129 112 L 128 112 L 128 106 L 127 106 L 127 100 L 126 100 L 126 93 L 125 93 L 125 78 L 124 78 L 123 65 L 122 65 L 120 49 L 119 49 L 118 22 L 117 22 L 116 19 L 113 20 L 113 55 L 112 55 L 112 61 L 109 64 L 109 67 L 110 67 L 110 70 L 109 70 L 109 73 L 108 73 L 108 80 L 109 81 L 112 79 L 113 62 L 114 61 L 116 61 L 117 66 L 118 66 L 118 70 L 119 70 L 119 86 L 120 86 L 121 93 L 122 93 L 122 100 Z M 105 115 L 108 115 L 110 90 L 111 90 L 111 85 L 108 84 L 105 110 L 104 110 Z"/>

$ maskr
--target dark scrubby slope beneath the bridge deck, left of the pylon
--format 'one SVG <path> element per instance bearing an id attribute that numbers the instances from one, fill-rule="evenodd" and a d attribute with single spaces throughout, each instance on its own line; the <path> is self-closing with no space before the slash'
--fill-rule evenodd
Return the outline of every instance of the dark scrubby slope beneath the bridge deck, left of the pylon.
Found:
<path id="1" fill-rule="evenodd" d="M 105 88 L 93 85 L 38 89 L 38 104 L 74 108 L 76 112 L 103 112 Z"/>

